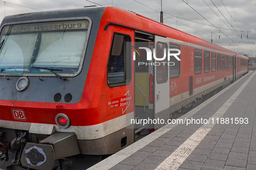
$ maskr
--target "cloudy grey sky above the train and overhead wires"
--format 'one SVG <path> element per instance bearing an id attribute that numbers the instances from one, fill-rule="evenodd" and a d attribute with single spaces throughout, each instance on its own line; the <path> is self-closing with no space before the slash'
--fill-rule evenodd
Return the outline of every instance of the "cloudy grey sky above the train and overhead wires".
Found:
<path id="1" fill-rule="evenodd" d="M 160 20 L 161 0 L 90 1 L 103 6 L 113 4 L 150 19 Z M 8 15 L 95 5 L 86 0 L 8 0 L 5 2 L 0 0 L 0 22 L 4 16 Z M 255 6 L 256 0 L 162 0 L 165 25 L 206 41 L 211 41 L 212 34 L 213 43 L 249 54 L 250 57 L 256 56 Z"/>

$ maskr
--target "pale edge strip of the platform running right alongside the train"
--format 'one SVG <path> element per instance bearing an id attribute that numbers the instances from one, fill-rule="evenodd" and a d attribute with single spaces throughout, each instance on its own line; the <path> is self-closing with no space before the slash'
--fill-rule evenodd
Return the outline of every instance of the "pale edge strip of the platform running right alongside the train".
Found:
<path id="1" fill-rule="evenodd" d="M 252 72 L 252 71 L 250 71 Z M 228 87 L 224 88 L 222 91 L 219 93 L 215 94 L 213 97 L 209 98 L 207 101 L 204 101 L 202 104 L 199 106 L 195 107 L 194 109 L 190 110 L 188 113 L 185 115 L 179 117 L 179 119 L 185 119 L 185 117 L 188 119 L 189 117 L 193 116 L 195 113 L 197 113 L 199 110 L 204 108 L 207 104 L 211 103 L 219 97 L 221 94 L 223 94 L 225 91 L 227 91 L 229 88 L 233 87 L 233 85 L 237 84 L 240 80 L 242 80 L 244 77 L 248 76 L 250 74 L 246 74 L 243 76 L 241 79 L 238 79 L 236 82 L 232 83 Z M 156 130 L 155 132 L 147 135 L 143 139 L 140 139 L 139 141 L 127 146 L 126 148 L 122 149 L 121 151 L 111 155 L 110 157 L 107 157 L 103 161 L 100 161 L 99 163 L 95 164 L 94 166 L 88 168 L 87 170 L 108 170 L 111 167 L 115 166 L 119 162 L 123 161 L 125 158 L 129 157 L 136 151 L 139 151 L 139 149 L 143 148 L 144 146 L 148 145 L 150 142 L 153 142 L 157 138 L 159 138 L 161 135 L 165 134 L 168 132 L 170 129 L 173 127 L 177 126 L 178 124 L 167 124 L 163 126 L 162 128 Z"/>

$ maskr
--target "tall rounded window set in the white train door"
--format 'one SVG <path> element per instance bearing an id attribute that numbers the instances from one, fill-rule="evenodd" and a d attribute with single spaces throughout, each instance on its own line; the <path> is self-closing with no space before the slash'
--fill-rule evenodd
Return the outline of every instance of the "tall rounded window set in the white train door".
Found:
<path id="1" fill-rule="evenodd" d="M 164 56 L 165 50 L 167 50 L 167 44 L 158 42 L 156 44 L 156 57 L 162 58 Z M 165 57 L 165 60 L 162 60 L 162 62 L 167 63 L 168 57 Z M 168 76 L 168 64 L 161 63 L 160 65 L 156 66 L 156 82 L 158 84 L 167 82 L 167 76 Z"/>

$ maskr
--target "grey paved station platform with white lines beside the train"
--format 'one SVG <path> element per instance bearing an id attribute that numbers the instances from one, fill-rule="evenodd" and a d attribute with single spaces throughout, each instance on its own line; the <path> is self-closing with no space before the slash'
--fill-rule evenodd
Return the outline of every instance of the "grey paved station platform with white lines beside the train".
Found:
<path id="1" fill-rule="evenodd" d="M 209 123 L 167 124 L 88 170 L 256 170 L 255 74 L 178 118 Z M 221 118 L 230 122 L 221 124 Z"/>

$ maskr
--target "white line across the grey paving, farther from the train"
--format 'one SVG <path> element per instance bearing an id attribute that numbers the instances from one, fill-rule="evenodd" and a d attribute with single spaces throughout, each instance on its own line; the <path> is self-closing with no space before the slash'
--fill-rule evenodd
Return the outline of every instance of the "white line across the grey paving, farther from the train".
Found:
<path id="1" fill-rule="evenodd" d="M 216 113 L 211 118 L 221 118 L 224 113 L 228 110 L 231 104 L 236 100 L 238 95 L 243 91 L 246 85 L 250 82 L 256 72 L 250 76 L 246 82 L 217 110 Z M 191 135 L 183 144 L 181 144 L 172 154 L 167 157 L 155 170 L 177 170 L 178 167 L 188 158 L 188 156 L 194 151 L 198 144 L 204 139 L 204 137 L 211 131 L 214 127 L 214 124 L 211 122 L 209 124 L 202 125 L 193 135 Z"/>

